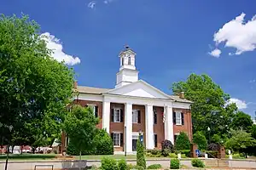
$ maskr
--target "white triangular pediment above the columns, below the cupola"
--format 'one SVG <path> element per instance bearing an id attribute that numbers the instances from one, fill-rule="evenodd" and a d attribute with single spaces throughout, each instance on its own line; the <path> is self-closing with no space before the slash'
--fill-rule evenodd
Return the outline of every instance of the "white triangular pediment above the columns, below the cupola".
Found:
<path id="1" fill-rule="evenodd" d="M 106 94 L 119 94 L 154 99 L 170 99 L 169 95 L 161 92 L 157 88 L 154 88 L 143 80 L 132 82 L 131 84 L 119 88 L 114 88 L 109 90 Z"/>

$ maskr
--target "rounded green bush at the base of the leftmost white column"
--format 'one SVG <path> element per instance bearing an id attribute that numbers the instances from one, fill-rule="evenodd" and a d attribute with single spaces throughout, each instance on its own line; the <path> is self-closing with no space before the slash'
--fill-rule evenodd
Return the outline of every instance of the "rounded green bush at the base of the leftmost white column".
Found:
<path id="1" fill-rule="evenodd" d="M 99 129 L 93 141 L 95 155 L 113 155 L 113 140 L 105 129 Z"/>

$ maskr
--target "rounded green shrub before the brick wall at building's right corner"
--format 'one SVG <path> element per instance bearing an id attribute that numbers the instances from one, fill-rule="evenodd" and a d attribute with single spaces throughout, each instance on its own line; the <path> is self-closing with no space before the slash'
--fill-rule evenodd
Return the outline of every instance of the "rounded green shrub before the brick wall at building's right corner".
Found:
<path id="1" fill-rule="evenodd" d="M 175 141 L 175 149 L 176 150 L 189 150 L 190 149 L 190 141 L 189 137 L 186 133 L 179 133 L 177 139 Z"/>

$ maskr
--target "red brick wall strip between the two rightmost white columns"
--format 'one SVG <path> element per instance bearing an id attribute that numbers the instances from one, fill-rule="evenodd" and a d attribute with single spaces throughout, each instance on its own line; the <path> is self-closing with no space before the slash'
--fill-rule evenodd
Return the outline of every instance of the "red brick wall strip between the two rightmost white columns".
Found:
<path id="1" fill-rule="evenodd" d="M 157 134 L 157 147 L 155 149 L 161 148 L 161 142 L 165 140 L 165 124 L 163 122 L 163 107 L 154 107 L 157 111 L 157 124 L 154 124 L 154 133 Z"/>

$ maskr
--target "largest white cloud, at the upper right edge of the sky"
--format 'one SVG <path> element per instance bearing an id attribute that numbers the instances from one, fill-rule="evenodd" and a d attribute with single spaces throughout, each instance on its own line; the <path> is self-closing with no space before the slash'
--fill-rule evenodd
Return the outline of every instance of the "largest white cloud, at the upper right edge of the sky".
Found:
<path id="1" fill-rule="evenodd" d="M 256 49 L 256 15 L 244 21 L 244 13 L 230 20 L 214 34 L 217 45 L 224 42 L 225 47 L 236 48 L 236 55 Z"/>

